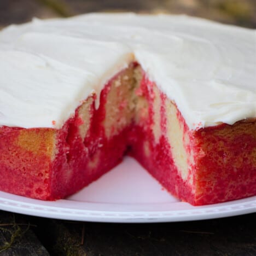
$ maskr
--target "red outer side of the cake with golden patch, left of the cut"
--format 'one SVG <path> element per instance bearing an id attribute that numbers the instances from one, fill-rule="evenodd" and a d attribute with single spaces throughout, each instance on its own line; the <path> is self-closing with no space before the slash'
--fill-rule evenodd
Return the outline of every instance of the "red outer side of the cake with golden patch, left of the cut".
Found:
<path id="1" fill-rule="evenodd" d="M 0 189 L 48 199 L 56 130 L 0 128 Z"/>

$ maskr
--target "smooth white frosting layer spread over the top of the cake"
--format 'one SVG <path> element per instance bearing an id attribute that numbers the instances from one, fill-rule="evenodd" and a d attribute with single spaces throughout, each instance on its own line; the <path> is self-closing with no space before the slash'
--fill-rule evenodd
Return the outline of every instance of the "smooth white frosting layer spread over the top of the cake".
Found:
<path id="1" fill-rule="evenodd" d="M 255 30 L 184 15 L 89 14 L 0 33 L 0 125 L 59 128 L 134 60 L 190 129 L 256 117 Z"/>

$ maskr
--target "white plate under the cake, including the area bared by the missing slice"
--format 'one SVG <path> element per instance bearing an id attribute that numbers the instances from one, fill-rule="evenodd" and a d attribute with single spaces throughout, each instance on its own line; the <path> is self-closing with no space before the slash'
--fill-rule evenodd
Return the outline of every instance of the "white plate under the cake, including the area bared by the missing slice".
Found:
<path id="1" fill-rule="evenodd" d="M 0 192 L 0 209 L 33 216 L 94 222 L 178 222 L 256 212 L 256 196 L 207 206 L 191 206 L 165 191 L 132 158 L 98 181 L 55 202 Z"/>

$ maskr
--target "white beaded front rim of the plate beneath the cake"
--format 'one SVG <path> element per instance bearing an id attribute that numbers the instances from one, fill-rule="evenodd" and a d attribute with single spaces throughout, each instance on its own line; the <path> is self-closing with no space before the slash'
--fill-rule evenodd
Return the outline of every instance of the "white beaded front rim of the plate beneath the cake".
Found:
<path id="1" fill-rule="evenodd" d="M 181 210 L 147 210 L 150 206 L 182 206 Z M 102 208 L 103 207 L 103 208 Z M 123 210 L 120 210 L 122 208 Z M 172 207 L 170 207 L 172 208 Z M 0 191 L 0 209 L 30 216 L 109 223 L 183 222 L 238 216 L 256 212 L 256 196 L 214 205 L 192 206 L 187 202 L 99 203 L 62 199 L 42 201 Z M 107 210 L 108 209 L 108 210 Z"/>

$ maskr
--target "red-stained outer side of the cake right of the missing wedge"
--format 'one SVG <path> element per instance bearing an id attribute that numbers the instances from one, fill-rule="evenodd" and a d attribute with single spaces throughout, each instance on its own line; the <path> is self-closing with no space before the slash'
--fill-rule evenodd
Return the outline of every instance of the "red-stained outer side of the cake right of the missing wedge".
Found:
<path id="1" fill-rule="evenodd" d="M 256 121 L 207 127 L 194 133 L 196 204 L 256 194 Z"/>

